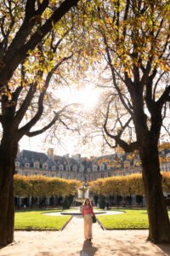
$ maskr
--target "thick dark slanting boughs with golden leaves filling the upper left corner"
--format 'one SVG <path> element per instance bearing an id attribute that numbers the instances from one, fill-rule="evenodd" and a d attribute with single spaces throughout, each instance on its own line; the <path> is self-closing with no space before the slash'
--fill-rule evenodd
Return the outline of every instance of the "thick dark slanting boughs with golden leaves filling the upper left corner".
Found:
<path id="1" fill-rule="evenodd" d="M 8 90 L 8 81 L 15 69 L 36 48 L 55 24 L 79 0 L 25 0 L 0 3 L 0 88 Z"/>

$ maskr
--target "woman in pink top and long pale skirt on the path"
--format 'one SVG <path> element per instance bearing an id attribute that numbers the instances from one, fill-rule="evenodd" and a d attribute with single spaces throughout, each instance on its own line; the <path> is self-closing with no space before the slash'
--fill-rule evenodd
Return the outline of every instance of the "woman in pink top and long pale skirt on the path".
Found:
<path id="1" fill-rule="evenodd" d="M 88 241 L 92 241 L 92 216 L 94 214 L 94 207 L 91 201 L 87 198 L 82 205 L 82 216 L 84 218 L 84 238 Z"/>

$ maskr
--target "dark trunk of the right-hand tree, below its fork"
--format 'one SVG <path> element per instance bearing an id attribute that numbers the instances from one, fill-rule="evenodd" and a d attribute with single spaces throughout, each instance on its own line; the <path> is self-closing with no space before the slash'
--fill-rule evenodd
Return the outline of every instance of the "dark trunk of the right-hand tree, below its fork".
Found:
<path id="1" fill-rule="evenodd" d="M 144 192 L 149 218 L 148 240 L 160 243 L 170 242 L 170 223 L 167 207 L 161 188 L 161 173 L 157 146 L 150 145 L 140 148 L 142 160 Z"/>

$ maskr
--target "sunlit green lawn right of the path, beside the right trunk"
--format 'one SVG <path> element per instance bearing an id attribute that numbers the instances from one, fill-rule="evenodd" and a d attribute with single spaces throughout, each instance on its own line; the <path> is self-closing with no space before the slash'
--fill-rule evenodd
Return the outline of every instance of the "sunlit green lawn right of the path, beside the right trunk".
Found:
<path id="1" fill-rule="evenodd" d="M 114 209 L 116 211 L 116 209 Z M 120 211 L 120 209 L 118 209 Z M 97 216 L 99 222 L 106 230 L 146 230 L 148 229 L 148 216 L 145 210 L 125 210 L 117 215 Z M 170 216 L 170 211 L 168 212 Z"/>

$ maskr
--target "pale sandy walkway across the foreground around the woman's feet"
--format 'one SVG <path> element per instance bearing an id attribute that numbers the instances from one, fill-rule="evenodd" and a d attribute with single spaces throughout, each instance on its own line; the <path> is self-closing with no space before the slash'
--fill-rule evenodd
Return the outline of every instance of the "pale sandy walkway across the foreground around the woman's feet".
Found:
<path id="1" fill-rule="evenodd" d="M 94 224 L 94 240 L 83 239 L 82 218 L 74 217 L 63 231 L 16 231 L 15 242 L 1 256 L 162 256 L 170 245 L 156 246 L 145 239 L 148 230 L 102 230 Z"/>

